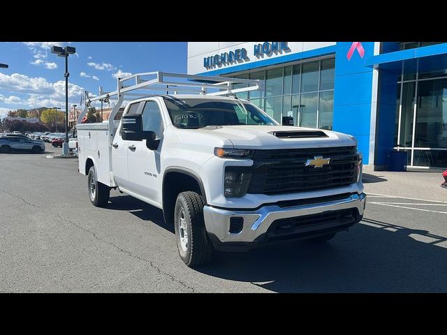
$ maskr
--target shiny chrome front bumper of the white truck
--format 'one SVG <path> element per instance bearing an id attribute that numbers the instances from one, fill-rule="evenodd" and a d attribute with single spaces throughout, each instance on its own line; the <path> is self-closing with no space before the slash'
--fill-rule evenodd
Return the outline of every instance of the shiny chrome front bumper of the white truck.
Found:
<path id="1" fill-rule="evenodd" d="M 265 232 L 273 221 L 279 218 L 293 218 L 319 214 L 325 211 L 337 211 L 339 209 L 358 209 L 358 214 L 363 215 L 365 210 L 366 194 L 353 194 L 343 200 L 320 202 L 317 204 L 304 204 L 295 207 L 281 208 L 277 205 L 264 206 L 255 211 L 233 211 L 231 209 L 219 209 L 205 206 L 203 216 L 207 232 L 214 234 L 221 242 L 253 242 Z M 242 231 L 230 233 L 230 218 L 240 216 L 244 218 Z"/>

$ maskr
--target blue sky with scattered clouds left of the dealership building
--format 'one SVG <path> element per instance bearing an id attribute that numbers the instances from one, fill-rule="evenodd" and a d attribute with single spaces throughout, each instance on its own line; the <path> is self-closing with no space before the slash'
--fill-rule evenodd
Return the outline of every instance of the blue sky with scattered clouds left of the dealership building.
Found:
<path id="1" fill-rule="evenodd" d="M 116 89 L 115 77 L 149 71 L 186 73 L 186 42 L 1 42 L 0 118 L 8 110 L 65 108 L 64 58 L 52 45 L 76 48 L 68 59 L 69 106 L 80 104 L 84 90 Z"/>

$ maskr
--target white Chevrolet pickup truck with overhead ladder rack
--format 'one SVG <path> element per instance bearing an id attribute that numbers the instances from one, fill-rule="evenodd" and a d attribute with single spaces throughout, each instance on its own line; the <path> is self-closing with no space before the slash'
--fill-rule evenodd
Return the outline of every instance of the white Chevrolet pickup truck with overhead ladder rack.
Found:
<path id="1" fill-rule="evenodd" d="M 182 84 L 202 94 L 142 95 L 114 120 L 129 91 L 150 84 L 177 93 L 180 83 L 163 80 L 167 75 L 186 77 Z M 232 89 L 241 83 L 246 90 L 261 86 L 235 78 L 133 75 L 118 80 L 117 91 L 94 98 L 118 99 L 101 124 L 80 124 L 94 101 L 86 94 L 78 120 L 79 171 L 88 176 L 92 204 L 106 207 L 110 189 L 118 188 L 163 209 L 189 267 L 208 262 L 216 249 L 327 241 L 358 223 L 366 195 L 356 139 L 281 126 L 249 101 L 228 97 L 244 90 Z M 217 93 L 205 94 L 216 87 Z"/>

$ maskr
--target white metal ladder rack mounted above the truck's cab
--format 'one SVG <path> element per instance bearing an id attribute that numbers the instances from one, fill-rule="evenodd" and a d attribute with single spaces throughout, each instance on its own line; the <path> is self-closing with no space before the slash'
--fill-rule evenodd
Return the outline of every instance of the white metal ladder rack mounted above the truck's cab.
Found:
<path id="1" fill-rule="evenodd" d="M 245 84 L 247 87 L 233 89 L 233 84 Z M 122 106 L 124 98 L 131 97 L 132 100 L 138 100 L 156 95 L 153 93 L 149 94 L 149 91 L 163 91 L 163 94 L 225 96 L 258 89 L 263 89 L 263 82 L 261 80 L 185 75 L 161 71 L 136 73 L 129 77 L 118 78 L 117 89 L 115 91 L 104 92 L 100 87 L 99 95 L 95 97 L 89 97 L 89 92 L 85 91 L 85 105 L 78 117 L 78 124 L 81 123 L 82 118 L 87 114 L 88 108 L 93 101 L 105 101 L 107 103 L 110 100 L 117 100 L 108 118 L 110 124 Z"/>

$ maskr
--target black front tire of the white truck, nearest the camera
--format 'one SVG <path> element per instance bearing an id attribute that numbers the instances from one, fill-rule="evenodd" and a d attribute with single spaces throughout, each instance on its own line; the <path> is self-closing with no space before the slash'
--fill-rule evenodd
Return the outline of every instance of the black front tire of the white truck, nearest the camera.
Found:
<path id="1" fill-rule="evenodd" d="M 180 258 L 188 267 L 199 267 L 210 262 L 213 253 L 211 241 L 208 239 L 203 219 L 203 198 L 196 192 L 182 192 L 177 196 L 174 212 L 175 240 Z M 186 247 L 181 218 L 186 226 Z"/>

